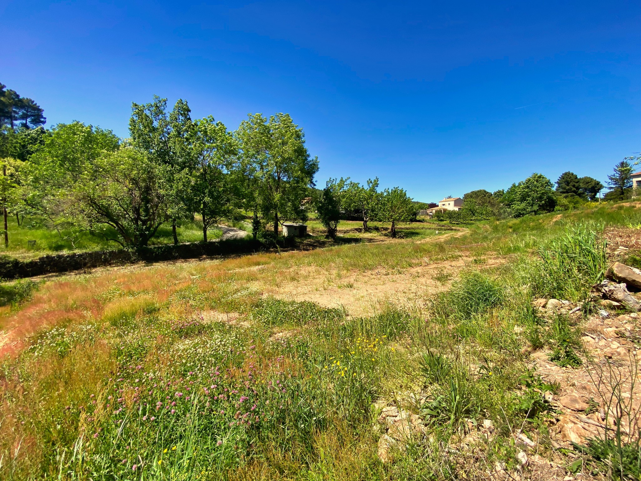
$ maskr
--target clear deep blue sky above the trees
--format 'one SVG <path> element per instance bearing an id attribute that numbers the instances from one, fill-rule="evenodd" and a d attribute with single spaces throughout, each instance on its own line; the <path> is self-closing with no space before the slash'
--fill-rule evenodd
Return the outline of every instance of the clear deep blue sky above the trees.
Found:
<path id="1" fill-rule="evenodd" d="M 641 150 L 638 1 L 0 2 L 0 82 L 128 135 L 131 102 L 288 112 L 328 177 L 421 201 Z"/>

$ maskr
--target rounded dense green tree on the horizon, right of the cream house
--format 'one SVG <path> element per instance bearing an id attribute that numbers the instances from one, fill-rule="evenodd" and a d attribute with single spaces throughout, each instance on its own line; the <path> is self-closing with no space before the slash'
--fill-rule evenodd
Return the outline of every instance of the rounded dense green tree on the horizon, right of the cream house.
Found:
<path id="1" fill-rule="evenodd" d="M 503 202 L 515 217 L 552 212 L 556 206 L 552 182 L 543 174 L 532 174 L 513 183 L 503 195 Z"/>

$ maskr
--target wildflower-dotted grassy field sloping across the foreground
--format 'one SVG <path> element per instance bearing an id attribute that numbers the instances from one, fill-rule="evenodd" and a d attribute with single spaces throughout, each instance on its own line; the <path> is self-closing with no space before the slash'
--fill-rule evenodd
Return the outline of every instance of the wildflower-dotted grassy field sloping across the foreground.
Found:
<path id="1" fill-rule="evenodd" d="M 634 443 L 554 441 L 562 387 L 530 357 L 584 369 L 590 302 L 578 321 L 531 303 L 588 300 L 604 228 L 640 223 L 603 206 L 6 284 L 0 478 L 604 479 L 626 450 L 633 479 Z"/>

